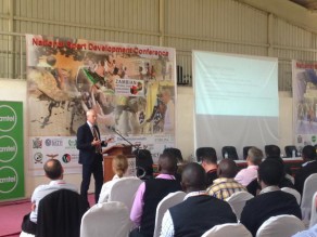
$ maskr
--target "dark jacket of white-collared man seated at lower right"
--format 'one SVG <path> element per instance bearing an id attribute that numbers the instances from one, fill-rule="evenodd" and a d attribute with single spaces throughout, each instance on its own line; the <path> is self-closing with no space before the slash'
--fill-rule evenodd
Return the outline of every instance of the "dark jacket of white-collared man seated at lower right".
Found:
<path id="1" fill-rule="evenodd" d="M 275 190 L 246 201 L 240 221 L 255 236 L 266 220 L 280 214 L 293 214 L 302 220 L 301 208 L 295 197 L 282 190 Z"/>

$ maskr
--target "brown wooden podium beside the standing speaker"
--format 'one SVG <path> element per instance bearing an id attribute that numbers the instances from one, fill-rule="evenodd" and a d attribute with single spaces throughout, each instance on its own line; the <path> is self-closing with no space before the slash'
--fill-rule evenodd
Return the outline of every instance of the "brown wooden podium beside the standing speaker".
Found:
<path id="1" fill-rule="evenodd" d="M 127 158 L 135 158 L 132 146 L 115 145 L 102 150 L 103 155 L 103 182 L 111 181 L 114 173 L 112 171 L 112 159 L 117 155 L 125 155 Z"/>

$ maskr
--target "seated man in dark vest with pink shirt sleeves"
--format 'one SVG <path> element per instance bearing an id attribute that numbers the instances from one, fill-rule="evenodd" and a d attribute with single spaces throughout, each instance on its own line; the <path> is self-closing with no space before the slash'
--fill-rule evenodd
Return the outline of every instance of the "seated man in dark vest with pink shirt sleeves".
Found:
<path id="1" fill-rule="evenodd" d="M 137 190 L 130 219 L 138 227 L 130 236 L 153 236 L 155 213 L 158 202 L 169 193 L 181 189 L 175 179 L 177 159 L 170 153 L 162 154 L 158 158 L 160 174 L 156 179 L 147 180 Z"/>

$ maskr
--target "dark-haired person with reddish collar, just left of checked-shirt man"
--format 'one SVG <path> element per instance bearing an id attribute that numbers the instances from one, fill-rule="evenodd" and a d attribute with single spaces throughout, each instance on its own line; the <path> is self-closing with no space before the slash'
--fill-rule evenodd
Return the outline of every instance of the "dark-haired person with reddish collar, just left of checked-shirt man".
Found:
<path id="1" fill-rule="evenodd" d="M 217 169 L 218 169 L 218 164 L 217 164 L 217 156 L 215 153 L 212 154 L 203 154 L 200 157 L 201 161 L 202 161 L 202 167 L 204 168 L 205 172 L 206 172 L 206 185 L 207 187 L 211 186 L 214 182 L 214 180 L 216 180 L 218 177 L 217 175 Z"/>

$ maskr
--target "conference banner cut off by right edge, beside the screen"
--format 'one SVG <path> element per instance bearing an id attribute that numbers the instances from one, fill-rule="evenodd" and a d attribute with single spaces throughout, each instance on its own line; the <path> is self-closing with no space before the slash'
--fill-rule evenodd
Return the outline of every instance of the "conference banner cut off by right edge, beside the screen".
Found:
<path id="1" fill-rule="evenodd" d="M 317 62 L 292 61 L 293 124 L 300 153 L 305 145 L 317 144 L 316 71 Z"/>

